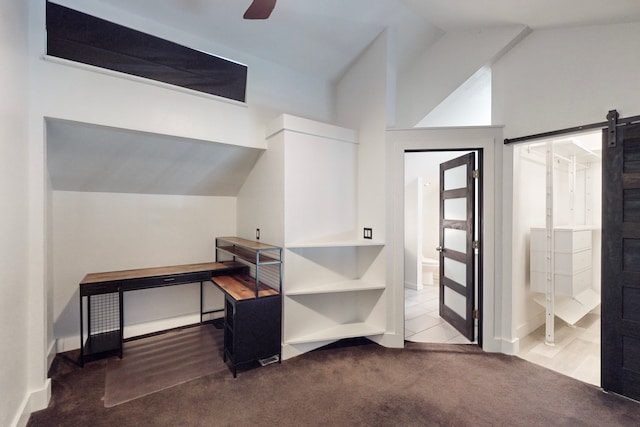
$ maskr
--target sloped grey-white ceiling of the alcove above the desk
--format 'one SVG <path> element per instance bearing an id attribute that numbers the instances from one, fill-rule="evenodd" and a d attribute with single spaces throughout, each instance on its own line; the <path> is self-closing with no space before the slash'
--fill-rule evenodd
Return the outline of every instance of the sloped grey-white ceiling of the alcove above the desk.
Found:
<path id="1" fill-rule="evenodd" d="M 55 190 L 236 196 L 262 152 L 47 119 L 47 166 Z"/>

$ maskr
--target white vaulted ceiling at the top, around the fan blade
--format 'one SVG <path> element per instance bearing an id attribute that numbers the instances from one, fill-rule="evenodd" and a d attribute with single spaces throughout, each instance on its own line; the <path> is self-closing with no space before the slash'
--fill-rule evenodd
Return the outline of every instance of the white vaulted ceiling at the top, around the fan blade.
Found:
<path id="1" fill-rule="evenodd" d="M 242 19 L 251 0 L 83 3 L 95 2 L 330 80 L 386 27 L 397 29 L 402 67 L 447 31 L 640 21 L 637 0 L 277 0 L 264 21 Z"/>

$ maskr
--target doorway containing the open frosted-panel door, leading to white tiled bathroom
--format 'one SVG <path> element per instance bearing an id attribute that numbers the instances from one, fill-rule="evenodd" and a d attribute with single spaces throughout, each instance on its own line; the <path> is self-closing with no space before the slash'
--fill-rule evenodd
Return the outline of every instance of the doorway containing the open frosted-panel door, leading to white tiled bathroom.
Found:
<path id="1" fill-rule="evenodd" d="M 481 343 L 481 163 L 481 150 L 404 153 L 407 341 Z"/>

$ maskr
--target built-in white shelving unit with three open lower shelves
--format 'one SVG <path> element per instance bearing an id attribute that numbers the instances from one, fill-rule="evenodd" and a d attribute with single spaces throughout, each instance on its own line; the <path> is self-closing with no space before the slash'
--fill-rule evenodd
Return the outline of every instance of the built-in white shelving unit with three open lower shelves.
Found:
<path id="1" fill-rule="evenodd" d="M 351 129 L 280 116 L 239 198 L 239 230 L 284 248 L 283 359 L 386 332 L 384 230 L 365 239 L 358 223 L 358 146 Z"/>

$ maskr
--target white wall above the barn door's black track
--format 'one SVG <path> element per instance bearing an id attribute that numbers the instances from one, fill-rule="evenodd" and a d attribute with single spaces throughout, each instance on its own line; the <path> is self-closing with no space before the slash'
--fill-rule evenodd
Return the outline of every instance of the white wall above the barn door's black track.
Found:
<path id="1" fill-rule="evenodd" d="M 505 137 L 640 114 L 640 23 L 536 30 L 493 66 L 493 123 Z"/>

